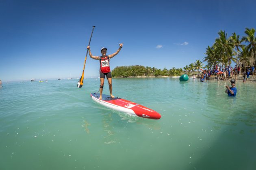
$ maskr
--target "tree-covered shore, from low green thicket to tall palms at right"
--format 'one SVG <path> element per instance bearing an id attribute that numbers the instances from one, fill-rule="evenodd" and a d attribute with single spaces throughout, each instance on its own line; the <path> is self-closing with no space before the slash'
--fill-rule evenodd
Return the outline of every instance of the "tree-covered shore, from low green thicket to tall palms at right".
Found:
<path id="1" fill-rule="evenodd" d="M 225 31 L 220 30 L 218 32 L 219 37 L 215 39 L 212 46 L 206 48 L 204 53 L 206 56 L 202 58 L 203 62 L 207 62 L 204 66 L 203 62 L 196 60 L 194 63 L 186 65 L 182 68 L 163 68 L 163 70 L 149 67 L 149 66 L 117 66 L 112 70 L 113 77 L 163 77 L 163 76 L 180 76 L 182 74 L 199 74 L 199 71 L 215 69 L 215 66 L 219 68 L 225 68 L 230 66 L 232 62 L 236 64 L 241 75 L 248 69 L 256 66 L 256 37 L 255 29 L 245 28 L 245 36 L 240 39 L 240 36 L 236 33 L 232 33 L 230 37 L 227 37 Z M 197 71 L 197 72 L 195 72 Z M 232 70 L 233 71 L 233 70 Z M 254 72 L 252 72 L 254 75 Z"/>

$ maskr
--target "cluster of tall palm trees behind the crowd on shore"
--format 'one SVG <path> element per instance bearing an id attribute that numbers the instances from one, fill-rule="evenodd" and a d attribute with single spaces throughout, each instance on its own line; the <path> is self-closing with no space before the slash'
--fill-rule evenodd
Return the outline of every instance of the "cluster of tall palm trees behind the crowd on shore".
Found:
<path id="1" fill-rule="evenodd" d="M 225 31 L 220 30 L 219 37 L 215 39 L 213 46 L 206 48 L 206 57 L 203 58 L 203 61 L 208 63 L 206 67 L 212 68 L 216 64 L 221 64 L 223 67 L 223 65 L 230 65 L 232 61 L 240 68 L 243 64 L 242 70 L 246 70 L 246 66 L 255 66 L 256 37 L 254 33 L 254 28 L 245 28 L 245 36 L 240 40 L 240 36 L 236 33 L 232 33 L 232 36 L 227 38 Z"/>

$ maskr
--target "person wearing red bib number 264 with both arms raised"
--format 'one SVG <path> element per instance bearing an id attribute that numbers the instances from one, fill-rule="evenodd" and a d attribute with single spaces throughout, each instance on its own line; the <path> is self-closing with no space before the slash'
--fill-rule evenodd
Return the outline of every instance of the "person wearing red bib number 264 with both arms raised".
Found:
<path id="1" fill-rule="evenodd" d="M 100 60 L 100 97 L 99 99 L 102 99 L 102 91 L 103 91 L 105 77 L 108 79 L 110 96 L 111 98 L 115 98 L 115 96 L 112 95 L 112 76 L 111 76 L 111 71 L 109 66 L 109 60 L 115 55 L 117 55 L 122 47 L 123 47 L 123 43 L 119 44 L 119 49 L 115 53 L 110 55 L 106 55 L 107 48 L 102 47 L 100 50 L 102 56 L 93 56 L 91 54 L 90 46 L 87 46 L 90 57 L 94 60 Z"/>

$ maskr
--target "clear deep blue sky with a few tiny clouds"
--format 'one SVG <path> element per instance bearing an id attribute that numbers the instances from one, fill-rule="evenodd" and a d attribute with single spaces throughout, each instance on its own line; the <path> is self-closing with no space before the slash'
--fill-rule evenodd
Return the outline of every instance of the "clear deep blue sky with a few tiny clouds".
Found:
<path id="1" fill-rule="evenodd" d="M 116 66 L 183 68 L 205 57 L 219 30 L 256 28 L 255 0 L 1 0 L 0 79 L 79 77 L 92 26 L 93 55 L 107 47 Z M 98 77 L 87 57 L 85 76 Z"/>

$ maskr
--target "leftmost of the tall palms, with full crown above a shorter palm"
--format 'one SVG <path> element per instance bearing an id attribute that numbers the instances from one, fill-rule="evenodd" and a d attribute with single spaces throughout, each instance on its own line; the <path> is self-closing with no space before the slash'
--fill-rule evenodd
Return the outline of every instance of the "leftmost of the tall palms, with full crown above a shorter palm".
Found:
<path id="1" fill-rule="evenodd" d="M 216 55 L 221 61 L 228 59 L 228 64 L 231 64 L 234 45 L 230 38 L 227 38 L 225 31 L 218 32 L 219 38 L 215 39 Z M 222 62 L 223 63 L 223 62 Z"/>

